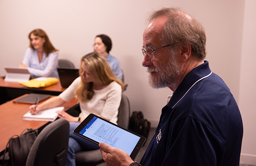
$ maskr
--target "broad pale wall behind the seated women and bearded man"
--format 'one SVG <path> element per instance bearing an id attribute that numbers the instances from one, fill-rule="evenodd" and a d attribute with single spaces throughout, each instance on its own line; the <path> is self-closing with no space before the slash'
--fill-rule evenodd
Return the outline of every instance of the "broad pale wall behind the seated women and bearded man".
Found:
<path id="1" fill-rule="evenodd" d="M 248 1 L 253 3 L 251 7 L 255 7 L 255 0 Z M 128 83 L 124 93 L 129 97 L 131 109 L 142 110 L 155 127 L 167 95 L 172 92 L 167 88 L 155 90 L 148 86 L 146 69 L 141 65 L 144 21 L 153 9 L 177 6 L 203 24 L 207 35 L 206 59 L 211 70 L 224 79 L 236 100 L 246 105 L 248 97 L 244 96 L 250 91 L 244 91 L 239 85 L 243 84 L 240 73 L 244 78 L 243 73 L 249 71 L 251 76 L 253 70 L 241 70 L 241 65 L 242 69 L 246 66 L 241 64 L 242 46 L 246 45 L 245 39 L 242 43 L 244 5 L 245 0 L 0 0 L 0 75 L 5 75 L 3 66 L 19 65 L 29 44 L 27 34 L 32 29 L 44 29 L 53 45 L 60 50 L 59 58 L 70 59 L 77 68 L 80 58 L 93 50 L 95 35 L 105 33 L 113 41 L 110 53 L 121 62 L 125 82 Z M 248 17 L 246 14 L 246 19 Z M 245 54 L 248 56 L 244 47 L 243 57 Z M 253 58 L 254 47 L 247 49 Z M 255 79 L 246 87 L 254 88 L 253 83 L 255 85 Z M 244 109 L 241 113 L 244 126 L 248 127 L 244 133 L 246 140 L 252 128 L 246 124 L 249 117 L 244 115 Z M 248 150 L 252 144 L 255 147 L 255 143 L 244 144 L 246 142 L 243 143 L 244 153 L 256 154 L 254 150 Z"/>

